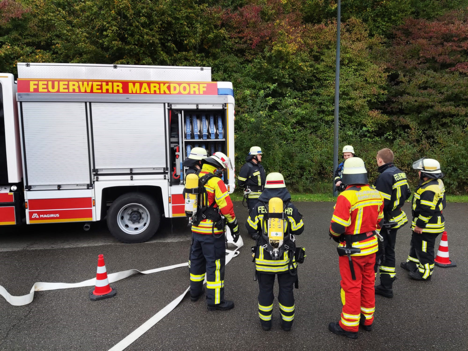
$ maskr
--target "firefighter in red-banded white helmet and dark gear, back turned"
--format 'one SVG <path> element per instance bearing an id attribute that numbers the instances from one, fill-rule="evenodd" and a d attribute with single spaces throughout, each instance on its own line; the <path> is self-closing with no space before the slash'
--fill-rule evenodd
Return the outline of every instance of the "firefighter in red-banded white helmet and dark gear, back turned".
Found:
<path id="1" fill-rule="evenodd" d="M 284 241 L 282 248 L 290 250 L 279 251 L 279 259 L 273 260 L 267 247 L 268 236 L 265 235 L 268 223 L 264 220 L 272 197 L 279 197 L 283 201 L 283 212 L 286 221 L 284 226 Z M 273 285 L 275 275 L 278 275 L 278 304 L 281 313 L 281 328 L 291 330 L 294 320 L 293 285 L 297 282 L 297 262 L 294 257 L 295 242 L 289 234 L 299 235 L 304 231 L 302 215 L 291 203 L 291 195 L 285 186 L 281 173 L 270 173 L 266 177 L 265 189 L 258 198 L 257 204 L 250 212 L 245 224 L 249 234 L 255 238 L 255 270 L 258 280 L 258 315 L 263 330 L 271 329 L 271 315 L 273 310 Z M 299 248 L 302 249 L 302 248 Z M 303 253 L 302 253 L 303 254 Z M 304 256 L 303 256 L 304 257 Z M 302 257 L 302 259 L 303 259 Z M 292 259 L 292 262 L 291 262 Z M 301 262 L 298 259 L 299 262 Z"/>

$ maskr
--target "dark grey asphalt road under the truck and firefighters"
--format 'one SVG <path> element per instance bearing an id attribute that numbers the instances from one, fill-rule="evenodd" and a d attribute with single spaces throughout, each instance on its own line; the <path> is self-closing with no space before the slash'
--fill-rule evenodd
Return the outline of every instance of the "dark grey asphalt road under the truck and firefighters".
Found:
<path id="1" fill-rule="evenodd" d="M 253 281 L 249 239 L 226 267 L 225 296 L 233 310 L 208 312 L 205 301 L 188 297 L 126 350 L 468 350 L 468 255 L 463 245 L 468 204 L 448 204 L 446 230 L 450 258 L 456 268 L 436 267 L 431 281 L 419 282 L 396 269 L 395 297 L 376 296 L 373 331 L 360 331 L 357 340 L 336 336 L 328 323 L 341 311 L 336 244 L 328 239 L 332 203 L 297 203 L 306 230 L 298 237 L 307 248 L 300 265 L 300 289 L 291 332 L 279 327 L 278 304 L 273 329 L 260 328 L 257 283 Z M 247 210 L 235 204 L 241 222 Z M 409 213 L 408 204 L 405 210 Z M 24 295 L 38 281 L 80 282 L 95 277 L 97 255 L 104 254 L 108 273 L 140 271 L 187 260 L 190 232 L 184 220 L 166 219 L 150 242 L 121 244 L 105 223 L 37 225 L 1 228 L 0 285 Z M 396 244 L 397 265 L 406 259 L 410 229 L 403 227 Z M 436 241 L 436 251 L 439 238 Z M 189 285 L 187 268 L 135 275 L 112 284 L 117 296 L 90 301 L 92 288 L 36 292 L 22 307 L 0 297 L 0 350 L 108 350 L 179 296 Z M 275 296 L 277 292 L 275 292 Z"/>

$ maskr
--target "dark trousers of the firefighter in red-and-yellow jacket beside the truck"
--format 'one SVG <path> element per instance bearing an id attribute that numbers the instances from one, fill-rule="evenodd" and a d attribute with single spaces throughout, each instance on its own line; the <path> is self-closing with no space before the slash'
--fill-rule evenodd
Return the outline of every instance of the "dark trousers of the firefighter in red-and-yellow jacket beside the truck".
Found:
<path id="1" fill-rule="evenodd" d="M 224 268 L 226 264 L 226 241 L 224 235 L 215 238 L 212 234 L 192 232 L 193 243 L 190 255 L 190 295 L 202 293 L 206 276 L 206 302 L 210 305 L 224 299 Z"/>

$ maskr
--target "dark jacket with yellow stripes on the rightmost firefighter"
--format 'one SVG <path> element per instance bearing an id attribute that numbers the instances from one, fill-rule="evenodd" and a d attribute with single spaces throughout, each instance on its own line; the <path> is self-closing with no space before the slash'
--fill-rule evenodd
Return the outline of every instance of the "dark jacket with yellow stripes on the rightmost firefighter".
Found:
<path id="1" fill-rule="evenodd" d="M 428 179 L 419 184 L 413 195 L 411 230 L 420 227 L 423 233 L 438 234 L 445 229 L 442 210 L 446 205 L 445 187 L 441 179 Z"/>

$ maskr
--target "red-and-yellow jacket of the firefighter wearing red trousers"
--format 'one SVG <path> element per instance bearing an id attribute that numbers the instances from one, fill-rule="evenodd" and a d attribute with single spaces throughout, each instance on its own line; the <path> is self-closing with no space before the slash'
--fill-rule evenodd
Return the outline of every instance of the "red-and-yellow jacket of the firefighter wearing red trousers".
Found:
<path id="1" fill-rule="evenodd" d="M 330 234 L 341 236 L 339 247 L 346 247 L 342 234 L 355 235 L 380 230 L 383 219 L 383 197 L 378 190 L 365 185 L 348 185 L 336 199 L 335 211 L 331 218 Z M 351 256 L 366 256 L 377 252 L 375 235 L 352 243 L 361 252 Z"/>

